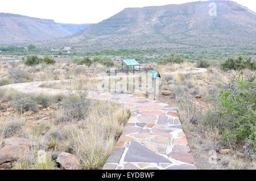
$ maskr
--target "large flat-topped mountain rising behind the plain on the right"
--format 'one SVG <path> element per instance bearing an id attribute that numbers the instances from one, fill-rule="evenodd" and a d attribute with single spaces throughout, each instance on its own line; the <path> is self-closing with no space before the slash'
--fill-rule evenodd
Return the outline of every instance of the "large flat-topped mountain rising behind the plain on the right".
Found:
<path id="1" fill-rule="evenodd" d="M 210 3 L 217 15 L 210 16 Z M 256 14 L 233 1 L 126 8 L 75 36 L 40 41 L 40 46 L 97 49 L 148 49 L 255 46 Z"/>

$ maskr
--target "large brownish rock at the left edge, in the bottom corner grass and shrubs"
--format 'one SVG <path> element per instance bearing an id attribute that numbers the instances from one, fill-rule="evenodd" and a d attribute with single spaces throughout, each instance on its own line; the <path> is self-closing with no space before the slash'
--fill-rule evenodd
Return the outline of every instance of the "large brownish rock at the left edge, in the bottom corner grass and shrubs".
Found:
<path id="1" fill-rule="evenodd" d="M 0 165 L 5 162 L 15 161 L 26 154 L 29 147 L 26 145 L 6 145 L 0 149 Z"/>

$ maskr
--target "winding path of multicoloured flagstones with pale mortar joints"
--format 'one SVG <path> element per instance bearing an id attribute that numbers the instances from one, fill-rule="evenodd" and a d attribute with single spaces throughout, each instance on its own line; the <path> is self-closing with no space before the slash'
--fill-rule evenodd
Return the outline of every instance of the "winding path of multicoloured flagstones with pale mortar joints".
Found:
<path id="1" fill-rule="evenodd" d="M 57 82 L 57 81 L 56 81 Z M 68 93 L 39 87 L 43 82 L 6 85 L 22 92 Z M 88 98 L 120 103 L 131 111 L 130 119 L 103 169 L 106 170 L 192 170 L 190 153 L 175 108 L 156 100 L 130 94 L 86 91 Z"/>

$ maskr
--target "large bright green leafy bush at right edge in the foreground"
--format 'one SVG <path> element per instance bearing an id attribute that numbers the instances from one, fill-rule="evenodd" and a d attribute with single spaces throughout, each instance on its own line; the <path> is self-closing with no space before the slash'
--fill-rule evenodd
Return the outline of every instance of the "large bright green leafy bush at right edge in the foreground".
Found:
<path id="1" fill-rule="evenodd" d="M 253 77 L 244 80 L 239 74 L 232 79 L 232 85 L 220 91 L 214 110 L 207 112 L 212 116 L 205 119 L 205 124 L 220 130 L 226 144 L 245 146 L 247 157 L 256 150 L 255 75 Z"/>

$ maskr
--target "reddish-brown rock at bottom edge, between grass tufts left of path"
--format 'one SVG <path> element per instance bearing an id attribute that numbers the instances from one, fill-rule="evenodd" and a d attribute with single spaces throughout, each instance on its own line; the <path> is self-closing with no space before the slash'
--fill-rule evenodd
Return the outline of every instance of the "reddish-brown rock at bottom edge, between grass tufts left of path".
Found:
<path id="1" fill-rule="evenodd" d="M 62 152 L 57 156 L 57 163 L 65 170 L 79 170 L 81 167 L 78 165 L 78 158 L 76 155 Z"/>

